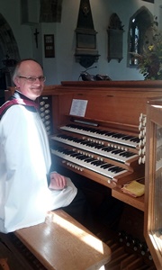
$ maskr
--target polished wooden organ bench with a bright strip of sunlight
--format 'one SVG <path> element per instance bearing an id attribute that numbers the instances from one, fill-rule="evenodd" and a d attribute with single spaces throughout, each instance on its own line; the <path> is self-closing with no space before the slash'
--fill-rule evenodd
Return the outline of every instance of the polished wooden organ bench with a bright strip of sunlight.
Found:
<path id="1" fill-rule="evenodd" d="M 44 223 L 14 233 L 47 269 L 100 269 L 111 259 L 110 247 L 65 211 L 49 211 Z"/>

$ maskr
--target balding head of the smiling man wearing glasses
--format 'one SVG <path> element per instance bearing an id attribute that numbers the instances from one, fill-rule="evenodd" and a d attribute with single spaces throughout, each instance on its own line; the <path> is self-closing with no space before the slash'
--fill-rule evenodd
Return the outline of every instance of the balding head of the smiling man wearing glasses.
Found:
<path id="1" fill-rule="evenodd" d="M 17 90 L 31 100 L 35 100 L 42 93 L 45 76 L 37 61 L 24 59 L 17 63 L 13 81 Z"/>

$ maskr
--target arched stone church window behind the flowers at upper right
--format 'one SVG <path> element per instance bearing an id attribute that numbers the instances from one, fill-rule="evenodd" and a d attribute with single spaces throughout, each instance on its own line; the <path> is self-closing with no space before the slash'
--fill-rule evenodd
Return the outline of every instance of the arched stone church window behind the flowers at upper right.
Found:
<path id="1" fill-rule="evenodd" d="M 148 38 L 148 30 L 153 23 L 153 15 L 150 14 L 145 6 L 142 6 L 136 14 L 130 18 L 130 26 L 128 32 L 128 67 L 137 67 L 138 58 L 135 58 L 130 52 L 142 54 L 146 39 Z"/>

